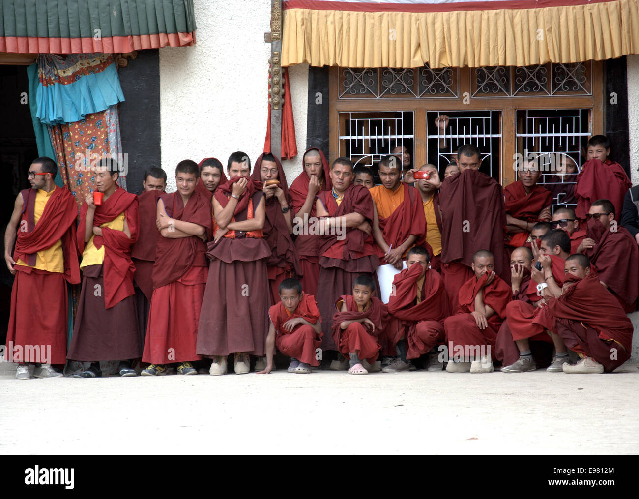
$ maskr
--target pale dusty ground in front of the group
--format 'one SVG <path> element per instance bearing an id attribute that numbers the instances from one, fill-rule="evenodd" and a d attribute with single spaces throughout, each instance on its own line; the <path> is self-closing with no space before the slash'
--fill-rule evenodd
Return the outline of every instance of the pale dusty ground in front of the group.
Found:
<path id="1" fill-rule="evenodd" d="M 360 449 L 383 454 L 639 448 L 636 364 L 602 375 L 276 371 L 17 381 L 14 374 L 13 364 L 0 364 L 0 455 L 121 454 L 131 446 L 169 455 L 295 447 L 343 454 L 338 442 L 348 434 L 383 442 Z"/>

